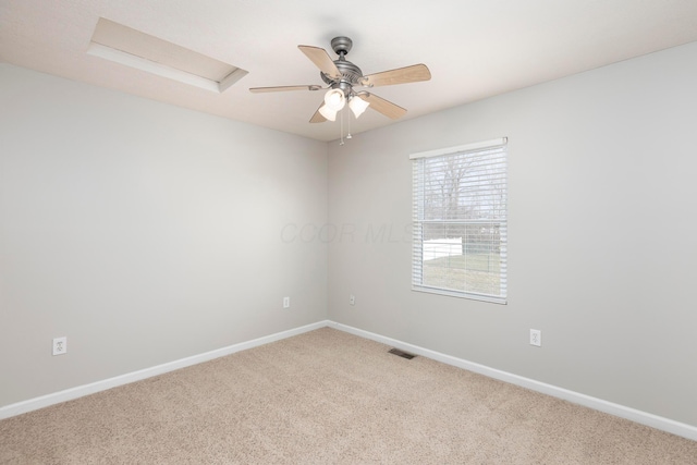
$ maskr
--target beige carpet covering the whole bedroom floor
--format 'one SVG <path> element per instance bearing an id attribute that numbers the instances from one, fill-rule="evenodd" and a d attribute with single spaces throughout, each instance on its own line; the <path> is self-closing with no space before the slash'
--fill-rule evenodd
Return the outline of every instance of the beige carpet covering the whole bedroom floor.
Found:
<path id="1" fill-rule="evenodd" d="M 329 328 L 0 421 L 1 464 L 697 464 L 697 442 Z"/>

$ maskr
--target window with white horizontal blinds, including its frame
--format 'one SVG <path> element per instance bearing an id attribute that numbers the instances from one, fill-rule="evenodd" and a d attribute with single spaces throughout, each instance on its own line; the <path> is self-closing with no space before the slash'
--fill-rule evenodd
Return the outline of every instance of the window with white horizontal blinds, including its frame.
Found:
<path id="1" fill-rule="evenodd" d="M 506 303 L 506 142 L 409 157 L 414 291 Z"/>

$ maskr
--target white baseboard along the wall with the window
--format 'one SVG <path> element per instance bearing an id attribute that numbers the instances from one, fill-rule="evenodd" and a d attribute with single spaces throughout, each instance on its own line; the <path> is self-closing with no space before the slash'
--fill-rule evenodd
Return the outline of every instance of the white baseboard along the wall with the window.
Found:
<path id="1" fill-rule="evenodd" d="M 687 425 L 684 423 L 672 420 L 670 418 L 664 418 L 658 415 L 637 411 L 635 408 L 625 407 L 624 405 L 603 401 L 602 399 L 592 397 L 590 395 L 582 394 L 578 392 L 570 391 L 567 389 L 563 389 L 552 384 L 547 384 L 545 382 L 536 381 L 534 379 L 513 375 L 506 371 L 498 370 L 496 368 L 490 368 L 485 365 L 479 365 L 474 362 L 468 362 L 462 358 L 441 354 L 440 352 L 419 347 L 418 345 L 408 344 L 406 342 L 398 341 L 391 338 L 386 338 L 383 335 L 364 331 L 362 329 L 353 328 L 346 325 L 337 323 L 334 321 L 329 321 L 328 325 L 329 327 L 338 329 L 340 331 L 348 332 L 351 334 L 369 339 L 376 342 L 381 342 L 383 344 L 391 345 L 402 351 L 411 352 L 415 355 L 421 355 L 424 357 L 432 358 L 435 360 L 442 362 L 448 365 L 452 365 L 458 368 L 463 368 L 469 371 L 488 376 L 489 378 L 494 378 L 501 381 L 509 382 L 511 384 L 521 386 L 523 388 L 541 392 L 543 394 L 548 394 L 553 397 L 563 399 L 574 404 L 594 408 L 599 412 L 604 412 L 607 414 L 614 415 L 620 418 L 625 418 L 641 425 L 650 426 L 651 428 L 660 429 L 662 431 L 667 431 L 676 436 L 682 436 L 683 438 L 692 439 L 693 441 L 697 441 L 697 426 Z"/>

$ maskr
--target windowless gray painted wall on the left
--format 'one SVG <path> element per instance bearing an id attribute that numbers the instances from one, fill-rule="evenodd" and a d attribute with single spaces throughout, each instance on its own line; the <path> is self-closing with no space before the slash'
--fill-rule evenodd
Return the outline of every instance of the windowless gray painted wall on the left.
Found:
<path id="1" fill-rule="evenodd" d="M 0 64 L 0 406 L 327 317 L 281 235 L 327 222 L 325 143 Z"/>

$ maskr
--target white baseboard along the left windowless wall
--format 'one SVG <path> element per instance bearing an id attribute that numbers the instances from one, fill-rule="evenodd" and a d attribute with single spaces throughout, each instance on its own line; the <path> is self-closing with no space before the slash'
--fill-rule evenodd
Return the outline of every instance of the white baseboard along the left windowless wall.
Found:
<path id="1" fill-rule="evenodd" d="M 78 386 L 78 387 L 66 389 L 63 391 L 53 392 L 51 394 L 41 395 L 39 397 L 34 397 L 26 401 L 17 402 L 15 404 L 5 405 L 3 407 L 0 407 L 0 419 L 9 418 L 15 415 L 48 407 L 49 405 L 60 404 L 61 402 L 72 401 L 73 399 L 94 394 L 100 391 L 106 391 L 108 389 L 115 388 L 118 386 L 123 386 L 134 381 L 139 381 L 142 379 L 162 375 L 168 371 L 185 368 L 192 365 L 200 364 L 203 362 L 212 360 L 213 358 L 234 354 L 235 352 L 245 351 L 247 348 L 256 347 L 259 345 L 268 344 L 270 342 L 276 342 L 285 338 L 291 338 L 293 335 L 302 334 L 307 331 L 325 328 L 328 325 L 329 325 L 329 321 L 327 320 L 318 321 L 316 323 L 307 325 L 301 328 L 277 332 L 276 334 L 266 335 L 264 338 L 254 339 L 247 342 L 241 342 L 239 344 L 229 345 L 227 347 L 217 348 L 215 351 L 206 352 L 206 353 L 194 355 L 186 358 L 181 358 L 179 360 L 169 362 L 167 364 L 157 365 L 157 366 L 145 368 L 138 371 L 129 372 L 129 374 L 117 376 L 113 378 L 108 378 L 101 381 L 91 382 L 89 384 Z"/>

